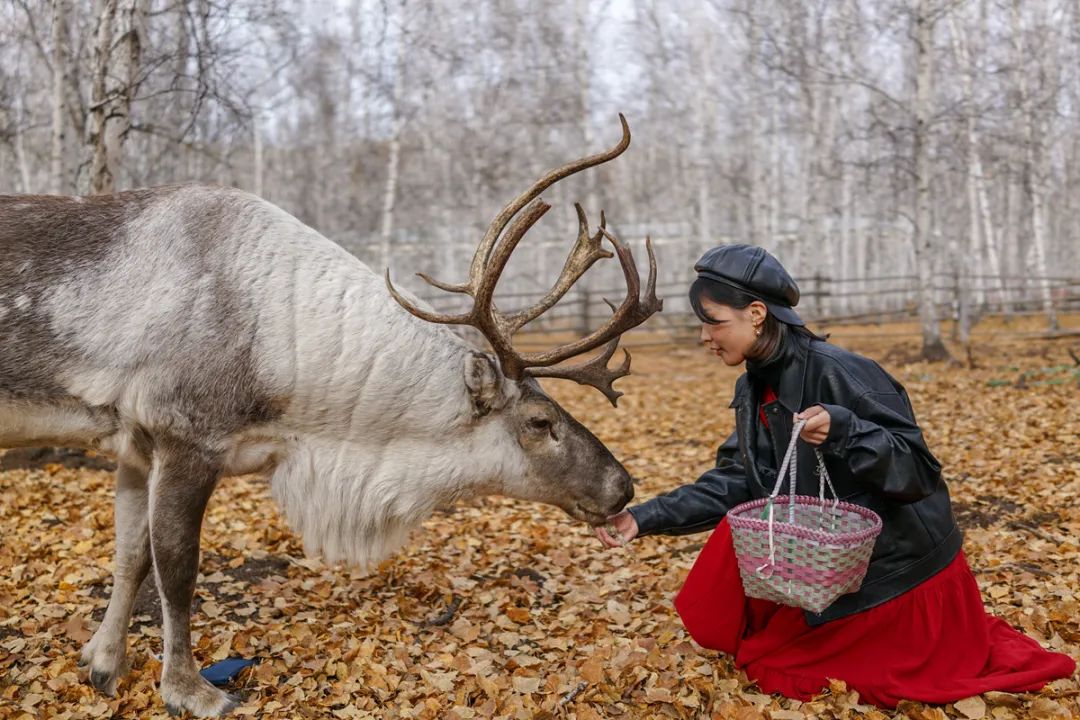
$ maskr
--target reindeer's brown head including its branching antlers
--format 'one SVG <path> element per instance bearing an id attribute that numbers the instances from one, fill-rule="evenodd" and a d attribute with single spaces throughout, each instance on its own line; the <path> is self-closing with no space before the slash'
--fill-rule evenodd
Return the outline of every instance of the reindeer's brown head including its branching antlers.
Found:
<path id="1" fill-rule="evenodd" d="M 551 207 L 538 199 L 540 193 L 565 177 L 617 158 L 630 146 L 630 127 L 625 118 L 620 114 L 619 119 L 622 140 L 616 147 L 551 171 L 496 216 L 473 256 L 469 282 L 443 283 L 418 273 L 440 289 L 473 298 L 469 312 L 444 314 L 418 308 L 396 291 L 387 271 L 390 294 L 410 313 L 432 323 L 470 325 L 491 344 L 494 357 L 473 354 L 464 372 L 475 422 L 496 424 L 521 448 L 521 462 L 517 463 L 521 472 L 515 477 L 502 478 L 502 491 L 514 498 L 557 505 L 572 517 L 592 525 L 603 524 L 608 515 L 622 510 L 633 498 L 630 475 L 596 436 L 541 390 L 536 378 L 564 378 L 591 385 L 616 405 L 622 393 L 611 384 L 630 373 L 630 352 L 626 350 L 623 350 L 619 367 L 608 368 L 619 338 L 648 320 L 663 304 L 656 295 L 657 263 L 652 244 L 646 241 L 649 279 L 643 299 L 640 276 L 630 248 L 607 231 L 603 213 L 599 228 L 590 234 L 585 213 L 580 204 L 575 204 L 578 239 L 551 290 L 536 304 L 511 314 L 499 312 L 492 297 L 514 248 Z M 618 254 L 626 281 L 626 297 L 622 303 L 616 308 L 608 302 L 615 312 L 611 318 L 588 337 L 569 344 L 539 353 L 517 352 L 512 344 L 515 332 L 554 307 L 594 262 L 613 257 L 602 246 L 605 239 Z M 597 348 L 604 351 L 592 361 L 556 367 Z"/>

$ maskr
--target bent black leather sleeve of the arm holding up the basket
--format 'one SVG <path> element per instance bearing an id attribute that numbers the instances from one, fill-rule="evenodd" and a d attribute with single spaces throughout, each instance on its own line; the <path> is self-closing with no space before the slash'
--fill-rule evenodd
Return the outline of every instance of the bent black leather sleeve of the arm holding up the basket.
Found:
<path id="1" fill-rule="evenodd" d="M 851 407 L 821 404 L 829 415 L 822 452 L 839 458 L 860 483 L 896 502 L 929 497 L 941 483 L 941 463 L 930 453 L 903 389 L 867 391 Z"/>

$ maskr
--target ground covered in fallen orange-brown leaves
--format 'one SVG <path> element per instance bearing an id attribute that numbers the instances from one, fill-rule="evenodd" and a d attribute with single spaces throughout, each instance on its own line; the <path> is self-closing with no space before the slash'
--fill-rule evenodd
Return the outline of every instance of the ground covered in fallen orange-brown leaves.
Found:
<path id="1" fill-rule="evenodd" d="M 1010 340 L 982 326 L 969 368 L 913 363 L 910 336 L 875 337 L 890 329 L 846 328 L 834 341 L 907 386 L 988 610 L 1080 657 L 1080 367 L 1068 354 L 1080 338 Z M 646 499 L 708 466 L 731 429 L 735 376 L 700 349 L 650 347 L 635 352 L 618 410 L 572 383 L 549 388 Z M 0 717 L 163 717 L 149 586 L 117 697 L 80 681 L 78 651 L 109 593 L 112 480 L 57 460 L 0 472 Z M 261 658 L 232 687 L 246 698 L 239 717 L 1080 717 L 1076 677 L 894 711 L 860 705 L 840 682 L 810 703 L 764 695 L 730 658 L 697 647 L 672 608 L 705 536 L 604 551 L 557 510 L 485 499 L 440 513 L 362 576 L 303 559 L 265 483 L 231 479 L 203 530 L 197 658 Z"/>

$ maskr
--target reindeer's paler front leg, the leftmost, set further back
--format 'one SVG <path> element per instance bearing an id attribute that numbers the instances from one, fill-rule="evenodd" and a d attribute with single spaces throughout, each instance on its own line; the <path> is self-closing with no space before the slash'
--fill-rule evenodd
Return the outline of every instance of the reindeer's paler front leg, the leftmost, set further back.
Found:
<path id="1" fill-rule="evenodd" d="M 106 695 L 127 671 L 127 627 L 139 585 L 150 570 L 150 530 L 147 474 L 130 464 L 117 468 L 117 559 L 112 593 L 105 619 L 82 649 L 80 665 L 89 666 L 90 681 Z"/>

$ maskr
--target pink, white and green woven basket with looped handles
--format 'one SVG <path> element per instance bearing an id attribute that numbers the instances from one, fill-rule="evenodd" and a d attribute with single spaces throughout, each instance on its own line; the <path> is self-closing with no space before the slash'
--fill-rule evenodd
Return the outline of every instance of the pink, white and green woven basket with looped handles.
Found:
<path id="1" fill-rule="evenodd" d="M 862 585 L 881 518 L 874 511 L 839 502 L 816 448 L 819 497 L 795 494 L 795 445 L 806 421 L 792 432 L 772 493 L 735 505 L 728 525 L 750 597 L 821 612 Z M 791 470 L 791 491 L 778 497 Z M 825 499 L 825 487 L 832 500 Z M 779 514 L 785 521 L 778 520 Z"/>

